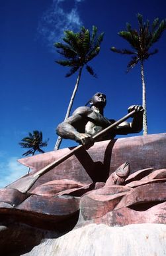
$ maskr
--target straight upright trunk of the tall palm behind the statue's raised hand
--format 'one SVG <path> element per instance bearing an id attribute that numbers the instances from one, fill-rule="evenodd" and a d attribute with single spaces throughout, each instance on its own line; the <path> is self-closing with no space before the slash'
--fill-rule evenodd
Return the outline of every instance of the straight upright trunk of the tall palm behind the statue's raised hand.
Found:
<path id="1" fill-rule="evenodd" d="M 147 110 L 146 110 L 146 91 L 145 91 L 145 78 L 144 78 L 144 63 L 141 62 L 141 76 L 142 76 L 142 106 L 144 108 L 143 115 L 143 135 L 147 134 Z"/>

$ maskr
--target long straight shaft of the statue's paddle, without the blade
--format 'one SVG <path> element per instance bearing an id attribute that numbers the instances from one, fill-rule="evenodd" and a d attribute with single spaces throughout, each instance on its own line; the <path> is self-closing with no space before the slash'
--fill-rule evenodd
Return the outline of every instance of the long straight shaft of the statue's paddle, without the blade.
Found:
<path id="1" fill-rule="evenodd" d="M 114 122 L 114 124 L 111 124 L 110 126 L 106 127 L 104 130 L 102 130 L 98 134 L 95 134 L 95 136 L 93 136 L 93 139 L 95 140 L 95 139 L 99 138 L 100 136 L 102 136 L 103 134 L 105 134 L 106 132 L 112 130 L 113 128 L 118 126 L 118 124 L 121 124 L 122 122 L 124 122 L 125 120 L 130 118 L 135 113 L 136 113 L 136 110 L 132 110 L 132 112 L 126 114 L 126 116 L 120 118 L 118 121 Z M 48 166 L 45 166 L 44 168 L 42 168 L 41 170 L 36 172 L 32 177 L 34 177 L 34 178 L 40 177 L 43 174 L 46 174 L 46 172 L 49 172 L 50 170 L 52 170 L 52 168 L 58 166 L 58 164 L 61 164 L 63 161 L 67 160 L 70 156 L 73 156 L 73 154 L 75 154 L 75 152 L 77 152 L 80 148 L 83 148 L 83 145 L 79 145 L 79 146 L 73 148 L 73 150 L 71 150 L 69 153 L 65 154 L 65 156 L 62 156 L 62 158 L 52 162 L 51 164 L 48 164 Z"/>

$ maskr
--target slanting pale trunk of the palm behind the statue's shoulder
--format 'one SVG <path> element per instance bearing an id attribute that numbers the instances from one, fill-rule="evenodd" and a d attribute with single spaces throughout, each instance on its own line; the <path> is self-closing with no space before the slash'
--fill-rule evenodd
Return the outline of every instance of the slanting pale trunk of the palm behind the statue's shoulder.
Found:
<path id="1" fill-rule="evenodd" d="M 74 88 L 74 90 L 73 90 L 73 93 L 72 93 L 71 98 L 70 98 L 70 101 L 69 101 L 69 106 L 68 106 L 68 108 L 67 108 L 67 112 L 66 112 L 66 114 L 65 114 L 65 119 L 64 119 L 64 121 L 69 117 L 69 114 L 70 114 L 70 112 L 71 112 L 71 108 L 72 108 L 72 106 L 73 106 L 73 100 L 74 100 L 74 98 L 75 98 L 75 94 L 76 94 L 77 89 L 78 89 L 78 86 L 79 86 L 79 80 L 80 80 L 80 78 L 81 78 L 81 72 L 82 72 L 82 70 L 83 70 L 83 66 L 81 66 L 81 68 L 79 68 L 79 74 L 78 74 L 78 77 L 77 77 L 77 81 L 76 81 L 76 83 L 75 83 L 75 88 Z M 58 136 L 58 139 L 57 139 L 57 141 L 56 141 L 56 145 L 55 145 L 55 147 L 54 147 L 54 150 L 59 150 L 61 143 L 62 143 L 62 138 L 61 138 L 60 136 Z"/>

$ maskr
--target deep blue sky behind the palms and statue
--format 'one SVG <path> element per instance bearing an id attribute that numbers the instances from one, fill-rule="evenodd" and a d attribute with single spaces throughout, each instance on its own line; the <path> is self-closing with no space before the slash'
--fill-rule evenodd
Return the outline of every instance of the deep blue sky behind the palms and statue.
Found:
<path id="1" fill-rule="evenodd" d="M 83 71 L 73 110 L 101 91 L 107 96 L 105 116 L 117 120 L 127 113 L 128 106 L 142 104 L 142 83 L 140 66 L 126 74 L 130 57 L 109 49 L 128 47 L 117 33 L 126 28 L 126 22 L 137 28 L 137 13 L 153 21 L 165 19 L 165 9 L 165 0 L 0 1 L 0 187 L 26 173 L 27 168 L 17 164 L 17 159 L 25 151 L 19 142 L 28 132 L 42 130 L 44 138 L 50 138 L 46 152 L 54 149 L 55 128 L 65 116 L 77 78 L 77 74 L 65 78 L 68 69 L 55 63 L 61 57 L 54 43 L 61 40 L 63 31 L 96 25 L 99 33 L 105 33 L 101 53 L 91 61 L 98 78 Z M 166 32 L 154 45 L 159 53 L 145 63 L 149 134 L 166 128 L 165 42 Z M 62 148 L 73 145 L 75 142 L 63 140 Z"/>

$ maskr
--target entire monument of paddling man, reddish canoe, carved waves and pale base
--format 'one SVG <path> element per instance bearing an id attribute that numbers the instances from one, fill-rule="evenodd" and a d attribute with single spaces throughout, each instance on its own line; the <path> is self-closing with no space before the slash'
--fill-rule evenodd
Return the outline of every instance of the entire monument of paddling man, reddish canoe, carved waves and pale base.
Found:
<path id="1" fill-rule="evenodd" d="M 103 94 L 96 96 L 106 102 Z M 58 126 L 63 137 L 76 133 L 79 150 L 42 175 L 73 148 L 22 158 L 32 172 L 0 190 L 2 255 L 165 255 L 166 134 L 106 137 L 140 130 L 142 107 L 132 106 L 132 123 L 94 144 L 93 131 L 115 121 L 106 118 L 103 125 L 103 112 L 96 115 L 93 106 L 78 108 Z M 81 132 L 80 122 L 86 126 Z"/>

